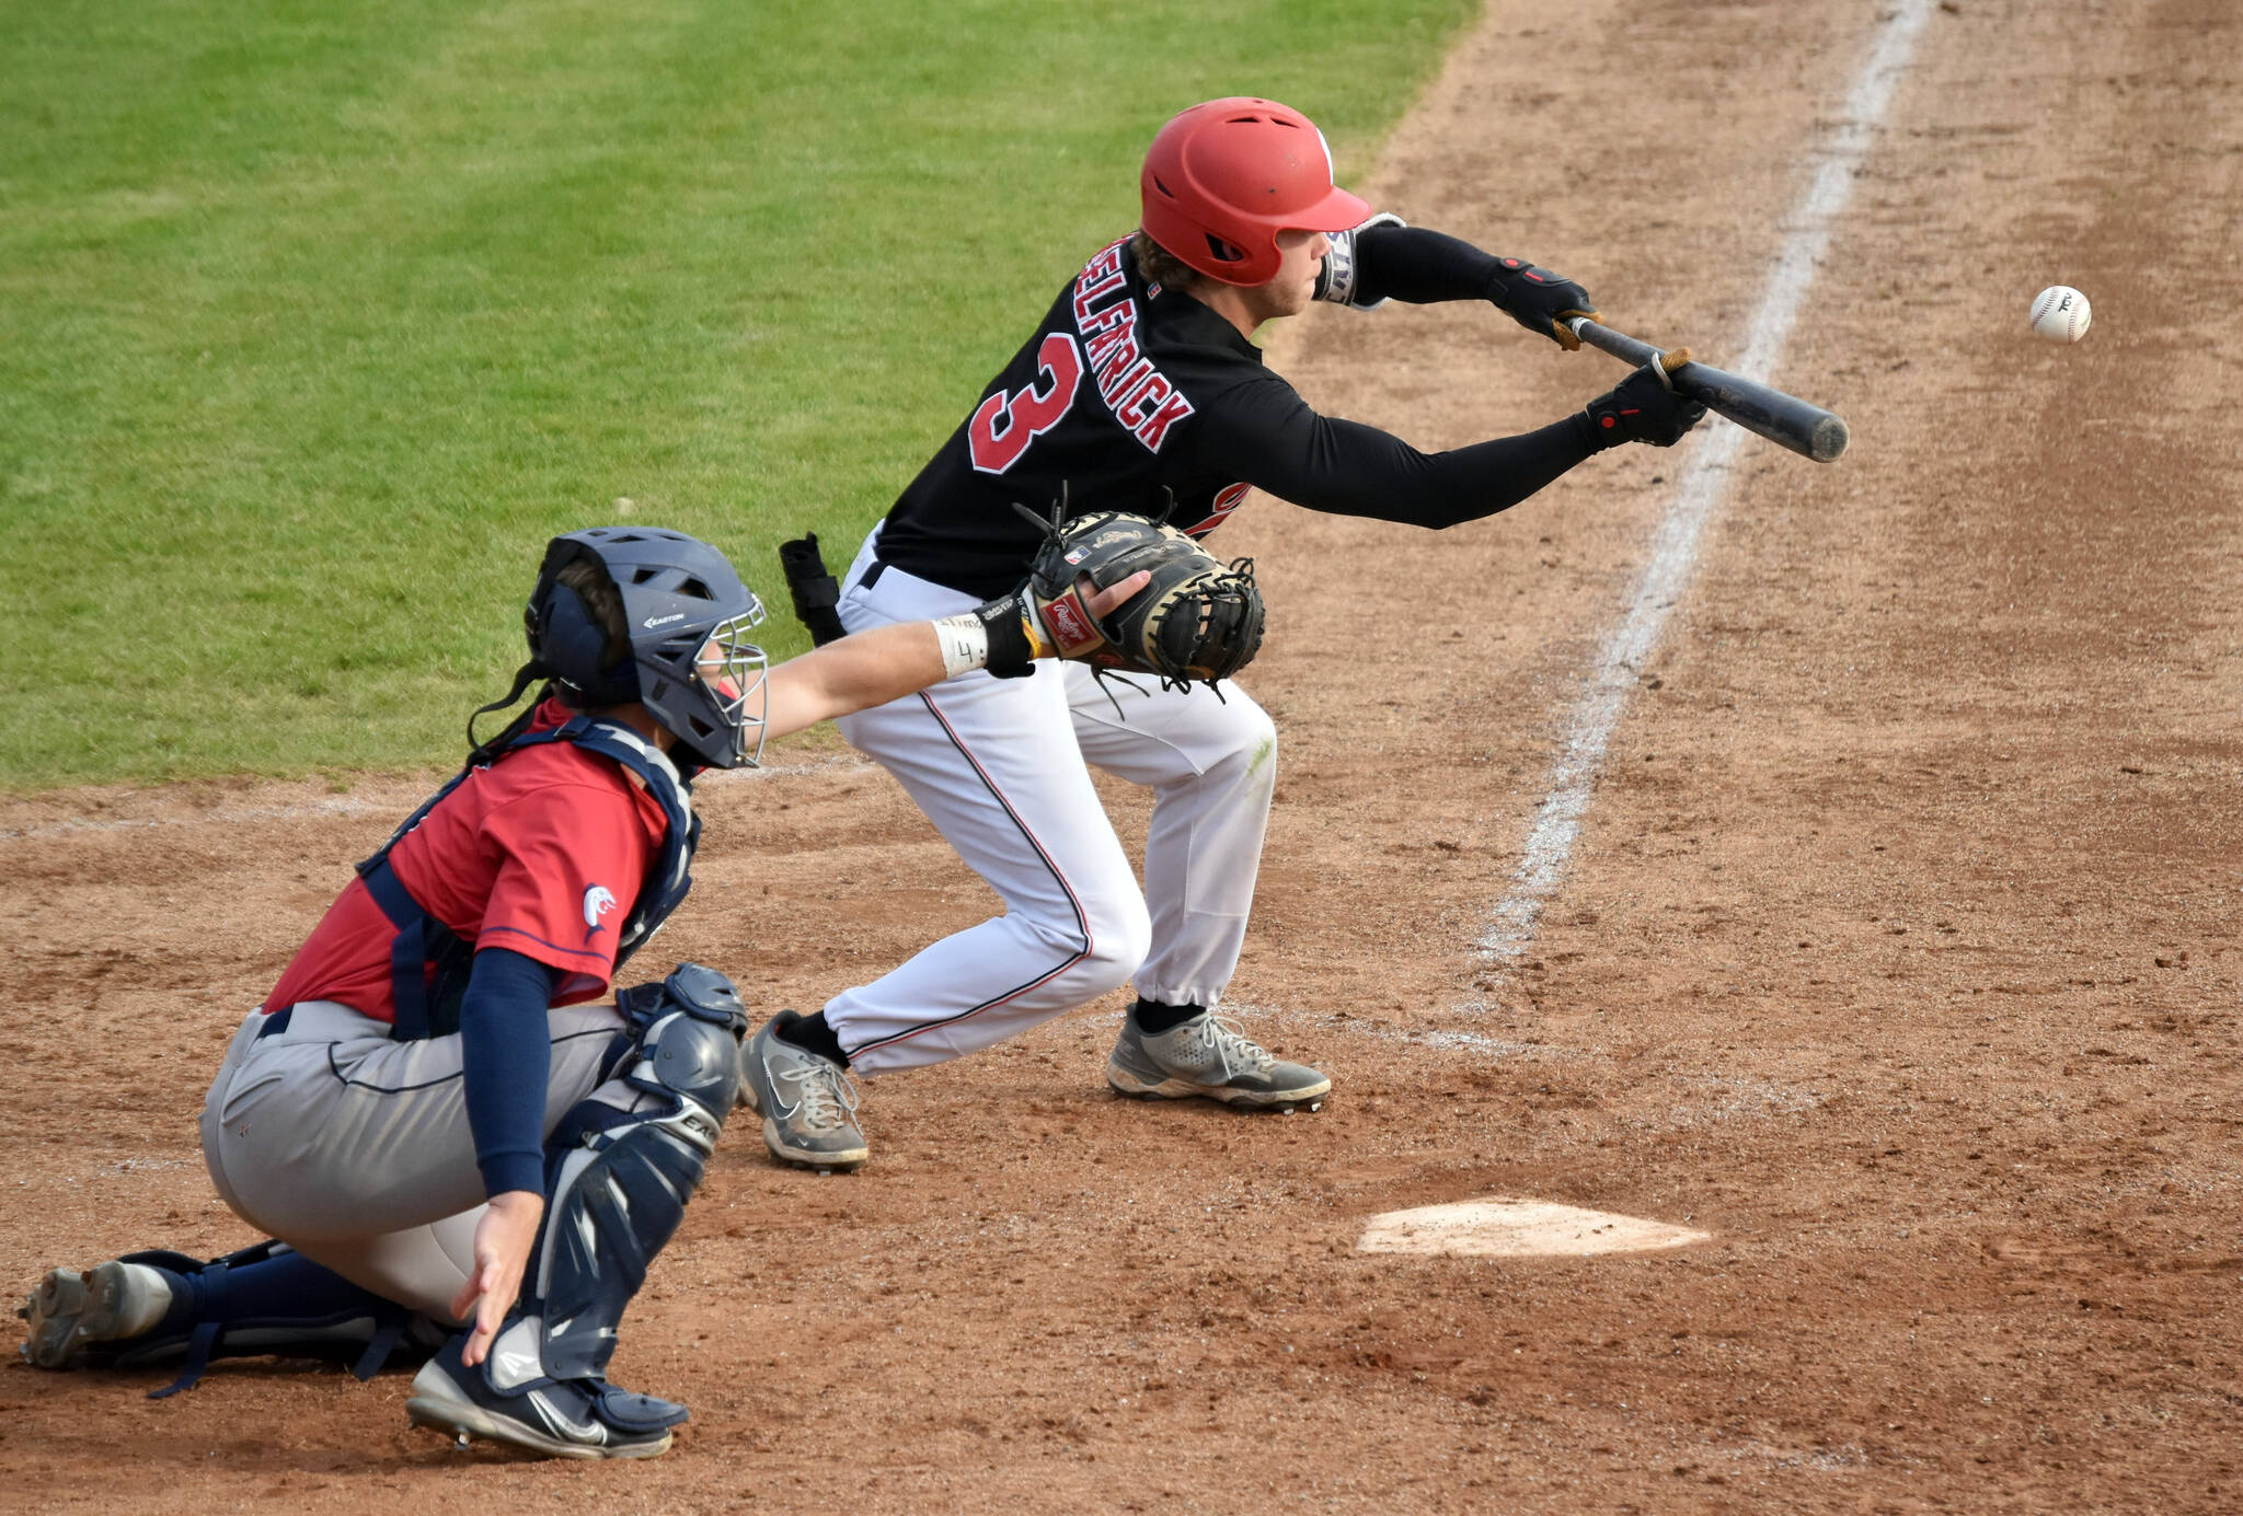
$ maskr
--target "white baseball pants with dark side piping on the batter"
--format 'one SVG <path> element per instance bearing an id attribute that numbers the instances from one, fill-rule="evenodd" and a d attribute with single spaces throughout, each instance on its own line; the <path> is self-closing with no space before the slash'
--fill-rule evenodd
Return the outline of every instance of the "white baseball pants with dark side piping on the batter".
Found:
<path id="1" fill-rule="evenodd" d="M 875 529 L 843 583 L 848 630 L 978 603 L 893 565 L 870 574 L 877 543 Z M 1101 686 L 1083 664 L 1039 662 L 1025 680 L 969 673 L 841 718 L 1005 899 L 1005 915 L 825 1002 L 857 1072 L 989 1047 L 1133 978 L 1148 1000 L 1220 1000 L 1254 904 L 1276 729 L 1236 684 L 1218 700 L 1126 677 Z M 1153 787 L 1142 886 L 1086 765 Z"/>

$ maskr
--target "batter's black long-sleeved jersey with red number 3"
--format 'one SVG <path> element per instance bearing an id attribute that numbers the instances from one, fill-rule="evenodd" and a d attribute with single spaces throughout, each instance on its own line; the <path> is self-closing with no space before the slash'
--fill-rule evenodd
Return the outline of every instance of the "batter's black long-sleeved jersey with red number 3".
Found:
<path id="1" fill-rule="evenodd" d="M 1370 307 L 1496 298 L 1496 258 L 1391 218 L 1332 238 L 1317 298 Z M 1586 413 L 1420 453 L 1317 415 L 1229 321 L 1148 285 L 1128 238 L 1077 274 L 973 415 L 904 489 L 879 536 L 895 567 L 964 594 L 1021 583 L 1047 514 L 1124 509 L 1204 536 L 1258 487 L 1294 505 L 1451 527 L 1512 507 L 1597 451 Z"/>

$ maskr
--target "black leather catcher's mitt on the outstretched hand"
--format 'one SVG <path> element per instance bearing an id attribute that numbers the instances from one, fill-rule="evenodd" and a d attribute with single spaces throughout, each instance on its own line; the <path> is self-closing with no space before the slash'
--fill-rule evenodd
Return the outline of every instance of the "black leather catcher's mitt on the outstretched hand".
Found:
<path id="1" fill-rule="evenodd" d="M 1263 601 L 1254 561 L 1216 561 L 1189 536 L 1128 511 L 1072 520 L 1016 507 L 1045 531 L 1025 594 L 1059 657 L 1099 668 L 1160 675 L 1162 688 L 1227 680 L 1261 650 Z M 1065 507 L 1061 507 L 1065 509 Z M 1101 626 L 1083 608 L 1077 581 L 1106 590 L 1148 570 L 1153 583 L 1122 601 Z"/>

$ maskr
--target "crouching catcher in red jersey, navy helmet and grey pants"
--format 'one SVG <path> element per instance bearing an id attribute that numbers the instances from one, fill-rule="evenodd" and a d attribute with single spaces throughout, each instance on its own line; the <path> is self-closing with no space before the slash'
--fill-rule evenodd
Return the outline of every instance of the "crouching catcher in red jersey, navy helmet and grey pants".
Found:
<path id="1" fill-rule="evenodd" d="M 686 1408 L 606 1366 L 736 1103 L 747 1014 L 700 964 L 606 996 L 691 888 L 691 778 L 951 675 L 1025 673 L 1043 637 L 1007 594 L 765 671 L 724 556 L 646 527 L 554 538 L 525 621 L 529 662 L 476 715 L 534 680 L 545 697 L 359 866 L 211 1085 L 211 1180 L 274 1240 L 52 1269 L 20 1312 L 36 1366 L 184 1364 L 170 1395 L 218 1357 L 366 1377 L 404 1348 L 428 1359 L 410 1417 L 462 1440 L 671 1444 Z"/>

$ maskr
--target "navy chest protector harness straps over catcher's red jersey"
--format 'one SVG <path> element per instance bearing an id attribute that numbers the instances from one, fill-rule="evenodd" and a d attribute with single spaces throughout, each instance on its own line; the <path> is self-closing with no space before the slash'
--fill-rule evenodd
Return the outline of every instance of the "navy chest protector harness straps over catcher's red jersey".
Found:
<path id="1" fill-rule="evenodd" d="M 366 881 L 366 893 L 375 897 L 381 915 L 397 928 L 397 937 L 390 942 L 390 1000 L 397 1007 L 393 1036 L 399 1043 L 449 1036 L 460 1029 L 460 998 L 467 993 L 467 978 L 476 967 L 476 944 L 460 937 L 413 899 L 397 870 L 390 868 L 390 848 L 417 828 L 428 812 L 442 805 L 444 796 L 467 783 L 467 776 L 478 767 L 505 762 L 509 754 L 518 754 L 525 747 L 543 747 L 545 742 L 574 742 L 588 754 L 619 762 L 646 783 L 646 792 L 662 803 L 662 814 L 668 821 L 662 832 L 662 852 L 655 854 L 655 861 L 646 868 L 646 879 L 639 884 L 639 899 L 617 928 L 617 971 L 684 904 L 686 893 L 693 888 L 693 877 L 686 870 L 693 863 L 693 848 L 700 843 L 700 816 L 693 814 L 691 787 L 677 776 L 677 767 L 671 765 L 662 749 L 628 727 L 599 722 L 590 715 L 509 740 L 484 765 L 460 769 L 451 783 L 406 816 L 404 825 L 390 834 L 390 841 L 381 843 L 381 852 L 359 863 L 359 879 Z"/>

